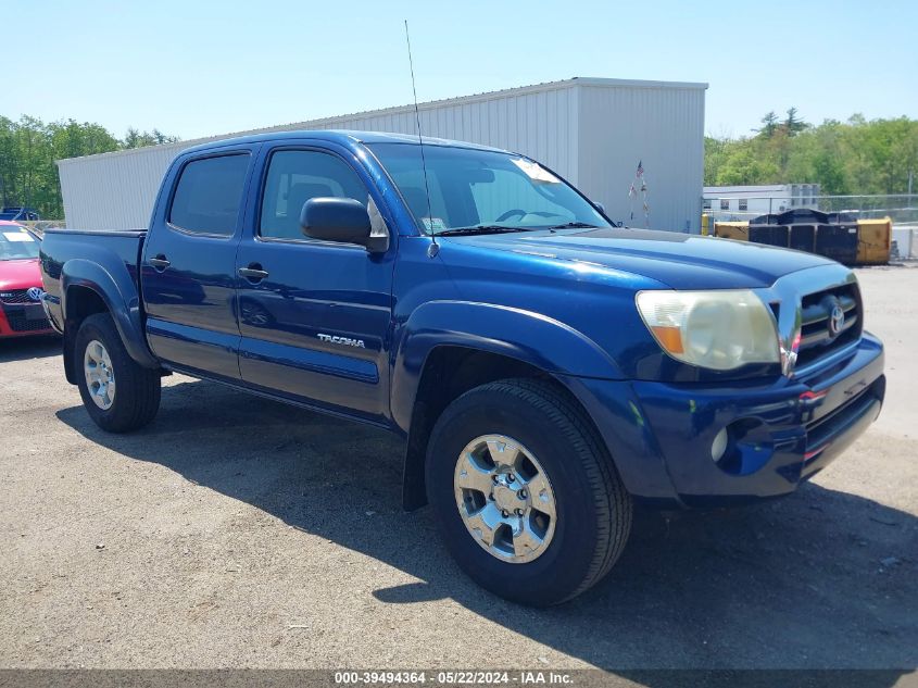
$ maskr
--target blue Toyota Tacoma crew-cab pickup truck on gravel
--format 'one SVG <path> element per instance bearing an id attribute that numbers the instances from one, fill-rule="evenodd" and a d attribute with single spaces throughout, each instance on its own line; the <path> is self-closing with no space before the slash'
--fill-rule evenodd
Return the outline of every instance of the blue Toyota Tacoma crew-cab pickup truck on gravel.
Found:
<path id="1" fill-rule="evenodd" d="M 175 371 L 392 430 L 405 506 L 535 605 L 609 571 L 636 502 L 793 492 L 885 387 L 846 267 L 617 227 L 538 162 L 456 141 L 198 146 L 148 230 L 52 229 L 41 264 L 100 427 L 150 423 Z"/>

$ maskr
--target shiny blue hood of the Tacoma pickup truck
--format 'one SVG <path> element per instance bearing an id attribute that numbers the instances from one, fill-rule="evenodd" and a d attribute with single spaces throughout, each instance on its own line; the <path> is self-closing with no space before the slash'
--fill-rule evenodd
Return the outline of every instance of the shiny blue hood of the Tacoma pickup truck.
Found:
<path id="1" fill-rule="evenodd" d="M 672 289 L 758 289 L 789 273 L 832 264 L 759 243 L 647 229 L 562 229 L 443 237 L 483 249 L 601 265 Z"/>

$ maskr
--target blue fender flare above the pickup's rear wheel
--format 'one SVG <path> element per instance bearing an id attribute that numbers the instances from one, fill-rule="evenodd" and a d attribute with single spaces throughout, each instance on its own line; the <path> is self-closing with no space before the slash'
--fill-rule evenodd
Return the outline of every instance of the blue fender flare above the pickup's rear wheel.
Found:
<path id="1" fill-rule="evenodd" d="M 75 258 L 64 263 L 61 271 L 61 312 L 66 321 L 71 287 L 91 289 L 99 295 L 109 310 L 130 358 L 143 367 L 158 368 L 159 361 L 151 353 L 143 337 L 137 286 L 120 260 L 117 265 L 121 270 L 112 274 L 98 262 L 86 259 Z"/>

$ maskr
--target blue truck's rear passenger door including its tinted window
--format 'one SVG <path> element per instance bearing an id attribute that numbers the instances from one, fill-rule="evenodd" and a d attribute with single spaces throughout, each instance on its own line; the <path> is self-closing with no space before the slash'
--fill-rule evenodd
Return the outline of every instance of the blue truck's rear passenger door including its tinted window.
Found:
<path id="1" fill-rule="evenodd" d="M 165 180 L 140 285 L 150 348 L 172 367 L 240 377 L 236 250 L 256 153 L 241 146 L 189 155 Z"/>

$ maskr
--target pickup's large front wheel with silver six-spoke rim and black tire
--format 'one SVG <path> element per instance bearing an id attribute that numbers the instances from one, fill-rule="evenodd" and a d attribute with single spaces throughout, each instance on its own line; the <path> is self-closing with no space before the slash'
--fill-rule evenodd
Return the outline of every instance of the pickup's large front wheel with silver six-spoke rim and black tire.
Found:
<path id="1" fill-rule="evenodd" d="M 524 604 L 558 604 L 595 585 L 631 527 L 631 498 L 604 445 L 540 380 L 489 383 L 451 403 L 431 433 L 426 481 L 458 565 Z"/>

